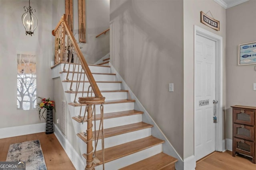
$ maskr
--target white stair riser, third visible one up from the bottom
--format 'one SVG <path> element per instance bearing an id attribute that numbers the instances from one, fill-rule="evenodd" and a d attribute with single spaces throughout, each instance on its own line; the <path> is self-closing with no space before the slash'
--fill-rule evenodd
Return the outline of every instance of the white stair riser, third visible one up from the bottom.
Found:
<path id="1" fill-rule="evenodd" d="M 124 117 L 113 117 L 111 119 L 104 119 L 104 129 L 111 128 L 111 127 L 117 127 L 117 126 L 123 126 L 123 125 L 129 125 L 132 123 L 138 123 L 142 121 L 142 115 L 129 115 Z M 87 122 L 84 123 L 78 123 L 80 125 L 80 132 L 85 132 L 87 129 Z M 93 131 L 94 131 L 94 121 L 92 121 L 93 125 Z M 100 126 L 100 120 L 96 120 L 96 130 L 99 129 Z"/>

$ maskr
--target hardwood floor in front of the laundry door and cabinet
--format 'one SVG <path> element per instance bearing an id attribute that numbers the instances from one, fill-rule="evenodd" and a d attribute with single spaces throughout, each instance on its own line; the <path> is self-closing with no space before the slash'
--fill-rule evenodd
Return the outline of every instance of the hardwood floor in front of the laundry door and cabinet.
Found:
<path id="1" fill-rule="evenodd" d="M 256 170 L 251 160 L 236 155 L 231 151 L 213 152 L 196 162 L 196 170 Z"/>

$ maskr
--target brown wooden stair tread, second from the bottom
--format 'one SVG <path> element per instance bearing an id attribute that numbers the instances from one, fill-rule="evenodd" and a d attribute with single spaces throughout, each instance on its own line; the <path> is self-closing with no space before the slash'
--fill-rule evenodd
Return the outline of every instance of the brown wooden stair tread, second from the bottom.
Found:
<path id="1" fill-rule="evenodd" d="M 156 145 L 160 145 L 162 143 L 164 143 L 163 140 L 150 136 L 114 147 L 106 148 L 104 149 L 105 163 L 139 152 L 141 150 L 148 149 L 150 147 L 154 147 Z M 86 154 L 83 154 L 83 156 L 86 158 Z M 100 160 L 100 163 L 95 165 L 97 166 L 102 164 L 102 150 L 96 151 L 96 157 Z"/>

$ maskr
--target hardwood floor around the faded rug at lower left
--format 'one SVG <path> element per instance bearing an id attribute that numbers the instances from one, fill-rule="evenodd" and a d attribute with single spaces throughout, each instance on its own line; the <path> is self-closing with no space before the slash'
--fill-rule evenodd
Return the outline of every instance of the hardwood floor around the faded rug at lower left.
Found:
<path id="1" fill-rule="evenodd" d="M 56 136 L 54 134 L 46 135 L 44 132 L 0 139 L 0 161 L 6 161 L 10 144 L 37 139 L 40 140 L 48 170 L 75 170 Z"/>

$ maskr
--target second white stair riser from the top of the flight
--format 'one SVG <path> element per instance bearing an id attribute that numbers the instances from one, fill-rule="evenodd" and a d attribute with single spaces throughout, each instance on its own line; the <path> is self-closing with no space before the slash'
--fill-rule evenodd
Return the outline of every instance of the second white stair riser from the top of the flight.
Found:
<path id="1" fill-rule="evenodd" d="M 64 72 L 61 74 L 62 76 L 62 80 L 67 80 L 67 72 Z M 73 74 L 72 73 L 69 73 L 68 74 L 68 80 L 72 80 L 72 76 Z M 78 76 L 78 79 L 77 79 L 77 76 Z M 109 75 L 109 74 L 92 74 L 92 76 L 94 77 L 94 80 L 95 81 L 115 81 L 116 78 L 115 78 L 115 75 Z M 74 73 L 74 77 L 73 77 L 73 80 L 80 80 L 80 74 L 78 73 Z M 81 81 L 88 81 L 88 78 L 87 76 L 84 74 L 81 75 Z"/>

